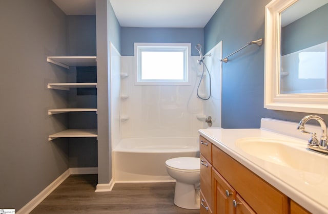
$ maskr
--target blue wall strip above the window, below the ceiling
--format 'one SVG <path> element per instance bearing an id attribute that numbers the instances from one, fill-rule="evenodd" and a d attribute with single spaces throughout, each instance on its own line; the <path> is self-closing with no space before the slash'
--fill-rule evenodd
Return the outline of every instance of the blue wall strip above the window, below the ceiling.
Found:
<path id="1" fill-rule="evenodd" d="M 134 55 L 134 42 L 191 43 L 191 55 L 197 56 L 194 48 L 203 45 L 203 28 L 132 28 L 121 27 L 121 55 Z"/>

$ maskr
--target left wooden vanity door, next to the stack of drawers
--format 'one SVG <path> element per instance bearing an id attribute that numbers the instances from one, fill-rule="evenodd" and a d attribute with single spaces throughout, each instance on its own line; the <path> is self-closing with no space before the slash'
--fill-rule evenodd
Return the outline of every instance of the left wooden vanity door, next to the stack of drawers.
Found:
<path id="1" fill-rule="evenodd" d="M 213 213 L 235 214 L 233 201 L 236 200 L 236 191 L 224 180 L 224 178 L 212 167 L 212 198 Z"/>

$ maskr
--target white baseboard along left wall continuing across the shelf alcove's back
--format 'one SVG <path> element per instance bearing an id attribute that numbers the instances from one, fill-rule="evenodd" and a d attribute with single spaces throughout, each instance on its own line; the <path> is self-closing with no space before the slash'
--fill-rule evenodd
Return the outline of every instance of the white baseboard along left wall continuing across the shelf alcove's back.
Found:
<path id="1" fill-rule="evenodd" d="M 55 190 L 55 188 L 57 188 L 61 183 L 63 183 L 63 181 L 65 181 L 70 175 L 97 174 L 97 173 L 98 173 L 97 167 L 67 169 L 56 180 L 54 180 L 51 184 L 49 184 L 49 186 L 47 186 L 37 196 L 35 196 L 30 202 L 28 202 L 25 206 L 20 208 L 16 212 L 16 214 L 30 213 L 37 205 L 39 205 L 45 198 L 47 198 L 47 196 L 49 196 L 49 194 L 51 194 L 51 192 L 53 190 Z M 98 188 L 98 185 L 97 185 L 97 188 Z M 114 186 L 114 184 L 113 184 L 113 186 Z"/>

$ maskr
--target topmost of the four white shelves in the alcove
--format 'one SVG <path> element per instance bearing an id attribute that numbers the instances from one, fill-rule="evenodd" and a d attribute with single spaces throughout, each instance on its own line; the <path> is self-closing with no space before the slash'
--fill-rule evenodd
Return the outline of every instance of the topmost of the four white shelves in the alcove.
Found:
<path id="1" fill-rule="evenodd" d="M 70 66 L 97 66 L 96 56 L 48 56 L 47 61 L 67 69 Z"/>

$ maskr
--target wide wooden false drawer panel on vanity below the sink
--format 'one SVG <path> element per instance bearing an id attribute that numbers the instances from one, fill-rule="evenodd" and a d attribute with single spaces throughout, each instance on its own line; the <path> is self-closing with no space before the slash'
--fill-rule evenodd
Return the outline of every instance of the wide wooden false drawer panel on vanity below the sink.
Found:
<path id="1" fill-rule="evenodd" d="M 257 213 L 288 213 L 288 197 L 216 146 L 213 167 Z"/>

